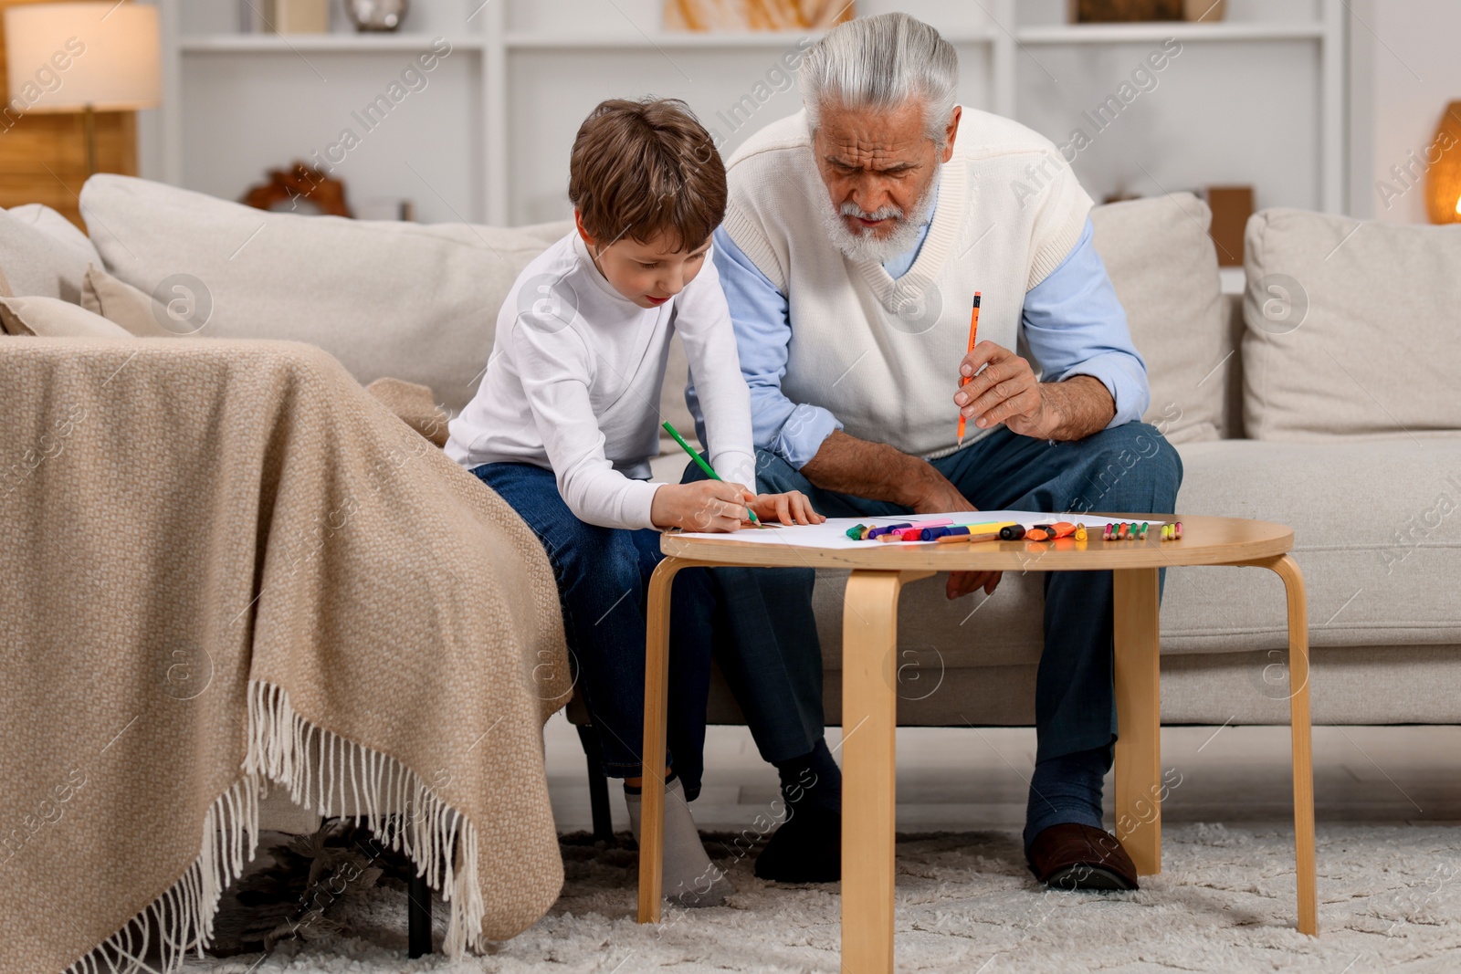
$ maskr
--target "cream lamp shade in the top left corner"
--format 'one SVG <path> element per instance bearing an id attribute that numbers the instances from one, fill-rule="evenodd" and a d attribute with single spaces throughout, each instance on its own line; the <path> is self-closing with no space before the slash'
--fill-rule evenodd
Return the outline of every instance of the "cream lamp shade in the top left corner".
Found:
<path id="1" fill-rule="evenodd" d="M 140 3 L 28 3 L 4 12 L 10 107 L 22 112 L 131 111 L 162 99 L 158 9 Z"/>

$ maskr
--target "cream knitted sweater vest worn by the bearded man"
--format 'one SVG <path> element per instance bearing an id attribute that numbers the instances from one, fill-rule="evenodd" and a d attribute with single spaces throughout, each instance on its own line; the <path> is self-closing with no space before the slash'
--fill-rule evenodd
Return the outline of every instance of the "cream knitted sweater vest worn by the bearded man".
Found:
<path id="1" fill-rule="evenodd" d="M 751 136 L 728 175 L 726 232 L 787 296 L 782 391 L 828 409 L 853 437 L 922 457 L 955 447 L 974 292 L 979 339 L 1017 349 L 1026 291 L 1071 253 L 1091 207 L 1053 143 L 964 108 L 928 238 L 893 280 L 828 239 L 805 111 Z M 966 442 L 988 432 L 970 423 Z"/>

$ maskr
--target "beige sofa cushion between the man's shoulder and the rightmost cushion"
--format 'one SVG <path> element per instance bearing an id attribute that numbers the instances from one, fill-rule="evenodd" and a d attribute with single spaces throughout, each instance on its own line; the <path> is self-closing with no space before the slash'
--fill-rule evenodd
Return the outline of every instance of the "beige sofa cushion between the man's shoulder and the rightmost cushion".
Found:
<path id="1" fill-rule="evenodd" d="M 1147 422 L 1172 442 L 1217 440 L 1227 323 L 1213 212 L 1191 193 L 1091 209 L 1096 250 L 1147 361 Z"/>

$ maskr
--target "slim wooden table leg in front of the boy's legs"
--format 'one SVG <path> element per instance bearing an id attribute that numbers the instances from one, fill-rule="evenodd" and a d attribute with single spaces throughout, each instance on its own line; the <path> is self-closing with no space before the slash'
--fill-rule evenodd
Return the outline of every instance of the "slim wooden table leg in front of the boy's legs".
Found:
<path id="1" fill-rule="evenodd" d="M 638 921 L 659 923 L 665 879 L 665 697 L 669 694 L 669 594 L 675 574 L 695 562 L 666 558 L 649 580 L 644 609 L 644 789 L 640 805 Z"/>

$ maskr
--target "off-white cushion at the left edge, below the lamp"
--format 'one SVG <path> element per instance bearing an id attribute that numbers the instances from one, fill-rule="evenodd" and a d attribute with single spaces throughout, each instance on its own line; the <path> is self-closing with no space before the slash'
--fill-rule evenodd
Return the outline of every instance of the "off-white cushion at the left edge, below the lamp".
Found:
<path id="1" fill-rule="evenodd" d="M 86 264 L 101 263 L 86 235 L 39 203 L 0 210 L 0 273 L 22 296 L 80 299 Z"/>

